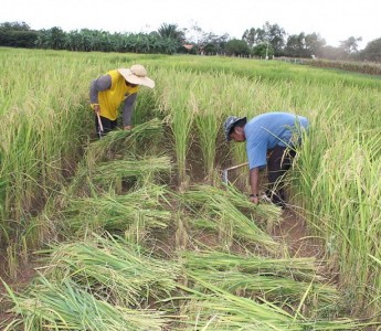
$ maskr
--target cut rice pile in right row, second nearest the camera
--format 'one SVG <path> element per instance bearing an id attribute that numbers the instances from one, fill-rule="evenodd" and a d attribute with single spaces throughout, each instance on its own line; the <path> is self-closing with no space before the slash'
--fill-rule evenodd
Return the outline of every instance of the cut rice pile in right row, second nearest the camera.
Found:
<path id="1" fill-rule="evenodd" d="M 190 278 L 213 284 L 240 297 L 293 307 L 308 292 L 305 303 L 310 316 L 336 313 L 340 306 L 338 290 L 318 276 L 314 259 L 275 259 L 205 250 L 183 252 L 182 263 Z"/>

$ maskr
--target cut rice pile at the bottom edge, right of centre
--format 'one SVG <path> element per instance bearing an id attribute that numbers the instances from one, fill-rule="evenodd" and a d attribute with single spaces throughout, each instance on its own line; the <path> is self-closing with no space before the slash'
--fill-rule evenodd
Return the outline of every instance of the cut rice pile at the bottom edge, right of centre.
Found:
<path id="1" fill-rule="evenodd" d="M 356 330 L 366 323 L 350 319 L 308 320 L 294 317 L 286 310 L 266 301 L 256 302 L 229 293 L 219 287 L 192 277 L 208 292 L 186 289 L 191 293 L 182 313 L 188 320 L 181 330 Z M 188 325 L 188 327 L 187 327 Z"/>

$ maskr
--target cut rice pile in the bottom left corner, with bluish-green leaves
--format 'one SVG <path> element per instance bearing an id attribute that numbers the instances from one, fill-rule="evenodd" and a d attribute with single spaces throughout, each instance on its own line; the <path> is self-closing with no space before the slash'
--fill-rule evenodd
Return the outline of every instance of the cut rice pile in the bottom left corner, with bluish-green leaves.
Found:
<path id="1" fill-rule="evenodd" d="M 155 310 L 113 306 L 80 289 L 70 280 L 61 285 L 40 277 L 28 293 L 17 296 L 8 288 L 17 317 L 2 330 L 162 330 L 168 319 Z"/>

